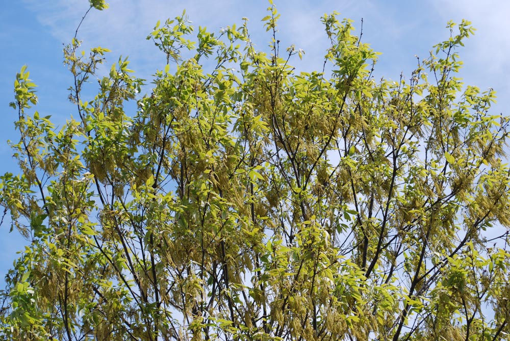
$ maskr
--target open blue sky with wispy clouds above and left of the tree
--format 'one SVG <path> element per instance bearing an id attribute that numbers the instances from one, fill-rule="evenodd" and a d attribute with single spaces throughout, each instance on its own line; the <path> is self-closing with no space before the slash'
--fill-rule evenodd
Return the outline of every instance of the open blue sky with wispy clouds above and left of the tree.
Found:
<path id="1" fill-rule="evenodd" d="M 180 15 L 186 8 L 195 28 L 206 26 L 219 31 L 248 17 L 253 41 L 265 48 L 270 37 L 262 28 L 268 3 L 259 1 L 189 0 L 107 0 L 110 9 L 91 11 L 79 32 L 84 46 L 103 46 L 112 53 L 107 62 L 129 56 L 130 68 L 142 78 L 163 69 L 164 56 L 145 40 L 156 21 Z M 340 12 L 340 17 L 354 20 L 357 29 L 363 24 L 363 40 L 382 53 L 376 68 L 378 76 L 398 79 L 401 72 L 409 78 L 416 65 L 415 55 L 426 58 L 431 46 L 448 37 L 445 24 L 465 18 L 477 29 L 466 47 L 460 51 L 465 66 L 461 76 L 466 84 L 481 89 L 494 88 L 498 103 L 494 113 L 510 115 L 510 2 L 506 0 L 274 0 L 281 13 L 279 38 L 282 47 L 295 44 L 305 51 L 303 60 L 294 61 L 299 70 L 322 68 L 327 48 L 320 17 Z M 16 72 L 27 64 L 30 78 L 38 85 L 41 115 L 52 115 L 63 122 L 73 112 L 67 101 L 71 75 L 62 64 L 62 47 L 74 35 L 78 23 L 88 9 L 87 0 L 18 0 L 4 1 L 0 11 L 0 173 L 16 172 L 7 140 L 17 141 L 13 122 L 16 112 L 9 108 L 13 100 Z M 15 252 L 24 242 L 16 232 L 8 233 L 9 222 L 0 227 L 0 284 L 12 266 Z M 3 286 L 0 285 L 0 288 Z"/>

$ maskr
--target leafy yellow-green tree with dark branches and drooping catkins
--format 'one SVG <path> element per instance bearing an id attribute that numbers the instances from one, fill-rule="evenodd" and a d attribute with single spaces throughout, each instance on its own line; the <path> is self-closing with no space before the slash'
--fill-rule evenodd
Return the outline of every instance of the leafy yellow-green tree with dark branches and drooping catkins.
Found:
<path id="1" fill-rule="evenodd" d="M 470 23 L 378 82 L 351 21 L 324 15 L 324 69 L 297 74 L 268 12 L 269 54 L 246 22 L 195 41 L 185 14 L 158 23 L 167 64 L 143 97 L 119 59 L 84 98 L 108 50 L 74 38 L 60 129 L 21 69 L 20 174 L 0 202 L 30 247 L 6 276 L 4 339 L 507 337 L 509 120 L 456 77 Z"/>

